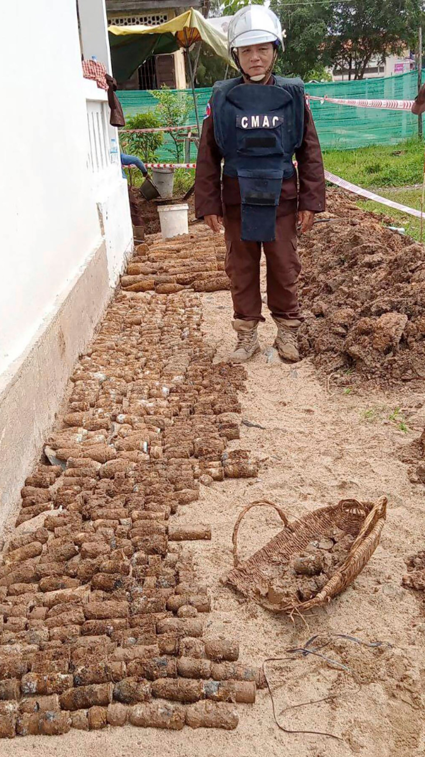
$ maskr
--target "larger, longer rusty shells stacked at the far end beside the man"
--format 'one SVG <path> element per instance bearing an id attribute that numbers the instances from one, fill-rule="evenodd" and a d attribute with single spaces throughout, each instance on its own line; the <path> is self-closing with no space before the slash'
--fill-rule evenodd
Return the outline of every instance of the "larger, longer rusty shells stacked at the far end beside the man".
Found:
<path id="1" fill-rule="evenodd" d="M 139 245 L 121 279 L 126 291 L 172 294 L 185 288 L 195 291 L 229 289 L 225 273 L 225 241 L 208 230 L 197 229 L 172 241 Z"/>

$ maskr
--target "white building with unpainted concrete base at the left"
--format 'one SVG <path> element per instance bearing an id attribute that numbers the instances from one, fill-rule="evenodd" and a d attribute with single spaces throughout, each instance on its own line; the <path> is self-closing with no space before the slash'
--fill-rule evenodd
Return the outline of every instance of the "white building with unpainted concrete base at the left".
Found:
<path id="1" fill-rule="evenodd" d="M 79 353 L 132 250 L 126 180 L 110 158 L 104 0 L 3 8 L 0 522 L 39 456 Z M 80 47 L 81 45 L 81 47 Z"/>

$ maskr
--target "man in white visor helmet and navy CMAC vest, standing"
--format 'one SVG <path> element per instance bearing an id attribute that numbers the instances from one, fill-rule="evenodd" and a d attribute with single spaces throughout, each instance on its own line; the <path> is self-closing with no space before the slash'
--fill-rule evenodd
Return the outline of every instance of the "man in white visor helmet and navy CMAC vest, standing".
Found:
<path id="1" fill-rule="evenodd" d="M 197 218 L 214 232 L 225 228 L 237 332 L 230 360 L 237 363 L 259 350 L 262 247 L 267 304 L 278 326 L 275 347 L 284 360 L 299 360 L 297 223 L 301 233 L 308 232 L 315 213 L 324 210 L 321 149 L 304 85 L 272 73 L 280 47 L 281 23 L 272 11 L 262 5 L 237 11 L 228 48 L 241 76 L 214 85 L 197 156 Z"/>

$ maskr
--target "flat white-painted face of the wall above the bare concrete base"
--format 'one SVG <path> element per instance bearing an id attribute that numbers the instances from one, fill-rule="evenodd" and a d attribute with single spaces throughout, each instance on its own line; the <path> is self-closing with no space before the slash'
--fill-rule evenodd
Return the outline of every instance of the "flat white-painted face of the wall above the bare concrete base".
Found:
<path id="1" fill-rule="evenodd" d="M 0 373 L 101 244 L 76 2 L 7 3 L 2 21 Z"/>

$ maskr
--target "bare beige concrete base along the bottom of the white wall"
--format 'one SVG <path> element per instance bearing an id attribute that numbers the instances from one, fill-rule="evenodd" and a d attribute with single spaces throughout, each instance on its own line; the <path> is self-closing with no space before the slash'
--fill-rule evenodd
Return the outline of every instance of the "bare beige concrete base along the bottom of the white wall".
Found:
<path id="1" fill-rule="evenodd" d="M 112 293 L 103 241 L 88 255 L 25 352 L 0 375 L 0 528 L 42 453 L 73 366 Z"/>

